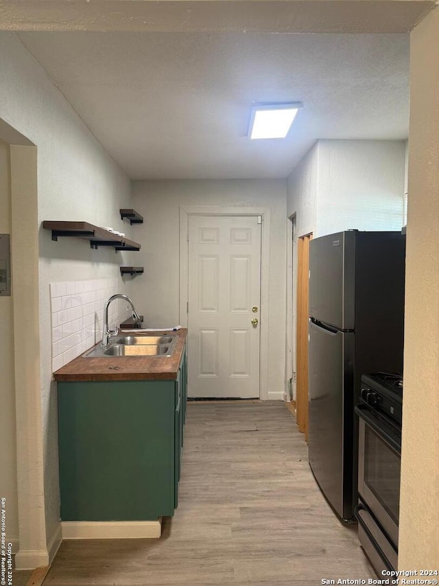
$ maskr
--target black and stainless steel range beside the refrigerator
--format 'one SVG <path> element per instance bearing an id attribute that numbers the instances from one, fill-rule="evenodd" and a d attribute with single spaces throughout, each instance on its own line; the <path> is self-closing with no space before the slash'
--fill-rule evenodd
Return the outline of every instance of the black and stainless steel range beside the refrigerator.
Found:
<path id="1" fill-rule="evenodd" d="M 359 541 L 376 572 L 398 564 L 403 380 L 379 372 L 361 376 L 358 493 Z"/>

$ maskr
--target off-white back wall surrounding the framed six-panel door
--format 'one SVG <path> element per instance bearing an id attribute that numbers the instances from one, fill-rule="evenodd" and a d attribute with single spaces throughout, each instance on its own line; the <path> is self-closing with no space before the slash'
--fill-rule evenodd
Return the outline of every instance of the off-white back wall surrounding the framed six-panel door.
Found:
<path id="1" fill-rule="evenodd" d="M 144 218 L 136 235 L 143 243 L 139 262 L 145 266 L 144 275 L 136 278 L 134 303 L 153 328 L 179 320 L 180 206 L 270 208 L 268 386 L 272 396 L 283 396 L 286 181 L 135 181 L 133 189 L 134 208 Z"/>

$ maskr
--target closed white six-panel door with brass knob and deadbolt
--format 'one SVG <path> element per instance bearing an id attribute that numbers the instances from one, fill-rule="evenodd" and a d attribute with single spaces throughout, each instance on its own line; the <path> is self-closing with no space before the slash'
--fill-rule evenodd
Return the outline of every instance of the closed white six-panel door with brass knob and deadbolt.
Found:
<path id="1" fill-rule="evenodd" d="M 191 397 L 259 397 L 260 222 L 189 216 Z"/>

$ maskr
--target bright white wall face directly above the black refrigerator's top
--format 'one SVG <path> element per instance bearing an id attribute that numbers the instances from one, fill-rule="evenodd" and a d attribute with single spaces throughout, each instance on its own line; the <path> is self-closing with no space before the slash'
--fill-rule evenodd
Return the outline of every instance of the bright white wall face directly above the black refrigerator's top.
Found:
<path id="1" fill-rule="evenodd" d="M 320 140 L 316 236 L 401 230 L 405 141 Z"/>

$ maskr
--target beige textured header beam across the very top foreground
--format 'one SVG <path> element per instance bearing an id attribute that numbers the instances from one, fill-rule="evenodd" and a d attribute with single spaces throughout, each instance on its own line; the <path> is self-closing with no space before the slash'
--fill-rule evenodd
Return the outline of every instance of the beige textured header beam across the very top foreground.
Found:
<path id="1" fill-rule="evenodd" d="M 408 32 L 435 0 L 0 0 L 3 30 Z"/>

